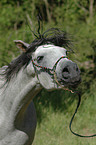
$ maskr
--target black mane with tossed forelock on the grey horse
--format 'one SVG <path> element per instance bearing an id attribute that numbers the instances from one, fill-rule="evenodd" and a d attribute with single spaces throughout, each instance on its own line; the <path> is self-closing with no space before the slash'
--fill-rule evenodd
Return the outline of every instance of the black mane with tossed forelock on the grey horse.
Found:
<path id="1" fill-rule="evenodd" d="M 29 45 L 27 52 L 22 53 L 18 58 L 13 60 L 4 71 L 3 75 L 6 78 L 6 82 L 9 82 L 22 67 L 26 67 L 29 64 L 32 60 L 32 52 L 34 52 L 40 45 L 53 44 L 71 50 L 71 42 L 67 37 L 67 33 L 58 28 L 48 29 L 43 34 L 38 33 L 38 36 L 35 36 L 36 39 Z"/>

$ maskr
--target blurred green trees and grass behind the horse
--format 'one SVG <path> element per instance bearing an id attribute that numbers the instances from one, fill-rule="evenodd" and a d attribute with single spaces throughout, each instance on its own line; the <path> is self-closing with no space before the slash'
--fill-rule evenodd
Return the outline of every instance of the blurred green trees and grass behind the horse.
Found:
<path id="1" fill-rule="evenodd" d="M 31 43 L 37 31 L 37 15 L 43 18 L 43 31 L 58 27 L 71 35 L 74 54 L 81 69 L 82 103 L 73 130 L 96 133 L 96 1 L 95 0 L 0 0 L 0 66 L 20 54 L 13 40 Z M 96 137 L 78 138 L 68 125 L 77 96 L 67 91 L 42 90 L 35 98 L 38 125 L 34 145 L 96 145 Z"/>

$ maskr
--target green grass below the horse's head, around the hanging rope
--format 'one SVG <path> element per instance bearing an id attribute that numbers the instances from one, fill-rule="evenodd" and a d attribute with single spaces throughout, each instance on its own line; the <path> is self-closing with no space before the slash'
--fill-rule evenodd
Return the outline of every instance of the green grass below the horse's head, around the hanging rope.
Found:
<path id="1" fill-rule="evenodd" d="M 87 92 L 82 96 L 72 124 L 72 129 L 83 135 L 96 133 L 96 91 Z M 42 91 L 34 101 L 38 118 L 34 145 L 96 145 L 96 137 L 76 137 L 69 130 L 77 105 L 76 95 L 65 91 Z"/>

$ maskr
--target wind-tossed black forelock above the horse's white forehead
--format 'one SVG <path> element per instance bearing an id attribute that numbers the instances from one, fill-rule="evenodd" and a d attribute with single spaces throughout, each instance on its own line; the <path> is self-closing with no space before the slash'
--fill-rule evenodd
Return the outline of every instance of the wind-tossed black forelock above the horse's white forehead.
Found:
<path id="1" fill-rule="evenodd" d="M 37 36 L 37 38 L 29 45 L 27 52 L 33 52 L 36 47 L 44 44 L 53 44 L 55 46 L 65 47 L 72 51 L 71 41 L 68 38 L 68 34 L 58 28 L 48 29 L 43 34 Z"/>

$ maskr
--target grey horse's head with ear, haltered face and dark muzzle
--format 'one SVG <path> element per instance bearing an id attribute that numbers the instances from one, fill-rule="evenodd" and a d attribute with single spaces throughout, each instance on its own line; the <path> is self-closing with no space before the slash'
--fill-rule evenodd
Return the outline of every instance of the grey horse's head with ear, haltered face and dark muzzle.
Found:
<path id="1" fill-rule="evenodd" d="M 41 40 L 35 40 L 31 44 L 27 44 L 21 40 L 15 40 L 15 43 L 26 55 L 29 55 L 32 64 L 31 67 L 28 67 L 30 68 L 30 73 L 34 69 L 34 73 L 43 88 L 53 90 L 71 87 L 73 89 L 81 81 L 80 70 L 75 62 L 68 59 L 67 44 L 60 45 L 60 42 L 55 42 L 64 40 L 58 38 L 60 40 L 51 42 L 51 39 L 53 39 L 53 37 L 50 38 L 50 41 L 45 38 L 42 40 L 41 38 Z M 57 39 L 57 37 L 55 39 Z M 37 44 L 40 43 L 40 41 L 41 44 L 38 46 Z M 37 45 L 35 49 L 33 47 L 34 43 Z M 57 43 L 57 45 L 55 45 L 55 43 Z M 63 45 L 66 46 L 61 47 Z"/>

